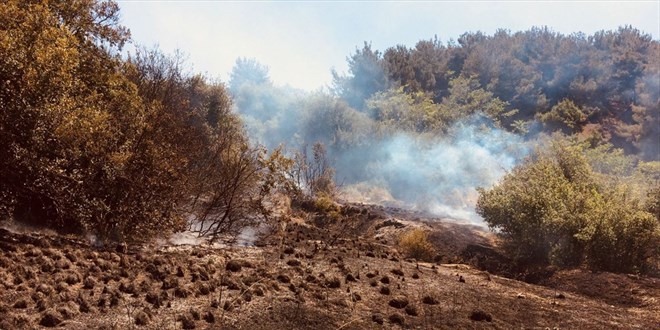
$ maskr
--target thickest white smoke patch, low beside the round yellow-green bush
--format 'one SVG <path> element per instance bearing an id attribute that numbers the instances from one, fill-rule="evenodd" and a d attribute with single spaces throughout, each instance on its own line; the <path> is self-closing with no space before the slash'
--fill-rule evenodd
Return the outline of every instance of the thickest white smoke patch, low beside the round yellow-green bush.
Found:
<path id="1" fill-rule="evenodd" d="M 377 142 L 373 154 L 363 154 L 371 158 L 364 171 L 369 176 L 346 185 L 344 198 L 480 223 L 474 211 L 476 188 L 497 182 L 527 149 L 519 136 L 477 117 L 451 131 L 444 138 L 397 134 Z"/>

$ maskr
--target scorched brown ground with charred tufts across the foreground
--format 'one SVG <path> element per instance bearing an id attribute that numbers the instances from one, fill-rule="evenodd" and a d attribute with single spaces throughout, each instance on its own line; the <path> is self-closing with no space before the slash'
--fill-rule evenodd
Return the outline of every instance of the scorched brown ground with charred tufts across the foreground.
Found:
<path id="1" fill-rule="evenodd" d="M 91 246 L 0 229 L 0 329 L 653 329 L 660 280 L 584 270 L 515 278 L 479 227 L 351 205 L 300 213 L 256 246 Z M 433 230 L 435 263 L 396 237 Z M 490 270 L 489 273 L 487 270 Z M 524 274 L 523 274 L 524 275 Z"/>

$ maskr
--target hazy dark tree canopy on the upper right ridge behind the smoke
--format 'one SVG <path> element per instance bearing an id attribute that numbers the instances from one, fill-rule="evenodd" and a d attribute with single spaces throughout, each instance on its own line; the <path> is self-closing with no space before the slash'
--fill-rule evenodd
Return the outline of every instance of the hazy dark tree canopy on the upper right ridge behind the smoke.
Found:
<path id="1" fill-rule="evenodd" d="M 356 109 L 397 88 L 436 104 L 482 91 L 482 97 L 505 102 L 500 119 L 507 130 L 579 133 L 658 160 L 659 47 L 629 26 L 592 36 L 565 36 L 547 27 L 466 33 L 457 42 L 436 38 L 382 53 L 365 43 L 348 59 L 349 74 L 335 74 L 335 88 Z M 461 110 L 456 112 L 468 109 Z M 421 130 L 447 121 L 442 115 L 457 116 L 448 110 L 424 115 L 417 123 Z"/>

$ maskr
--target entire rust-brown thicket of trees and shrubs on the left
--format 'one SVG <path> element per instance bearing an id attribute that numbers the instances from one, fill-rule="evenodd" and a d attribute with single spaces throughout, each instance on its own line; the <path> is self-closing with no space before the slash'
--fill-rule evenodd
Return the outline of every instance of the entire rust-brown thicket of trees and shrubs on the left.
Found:
<path id="1" fill-rule="evenodd" d="M 273 158 L 224 85 L 138 51 L 113 1 L 0 3 L 0 216 L 103 239 L 234 231 L 264 214 Z M 207 223 L 208 224 L 208 223 Z"/>

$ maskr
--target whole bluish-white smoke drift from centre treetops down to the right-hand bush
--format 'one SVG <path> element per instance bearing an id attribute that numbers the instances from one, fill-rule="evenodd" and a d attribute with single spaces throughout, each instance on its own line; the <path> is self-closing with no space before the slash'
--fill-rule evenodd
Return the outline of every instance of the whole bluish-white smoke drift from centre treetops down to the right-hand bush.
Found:
<path id="1" fill-rule="evenodd" d="M 521 137 L 478 115 L 442 136 L 383 133 L 376 121 L 331 95 L 291 94 L 270 84 L 240 91 L 236 107 L 253 143 L 289 150 L 324 143 L 347 201 L 481 223 L 476 188 L 494 184 L 526 154 Z"/>

